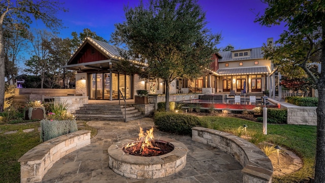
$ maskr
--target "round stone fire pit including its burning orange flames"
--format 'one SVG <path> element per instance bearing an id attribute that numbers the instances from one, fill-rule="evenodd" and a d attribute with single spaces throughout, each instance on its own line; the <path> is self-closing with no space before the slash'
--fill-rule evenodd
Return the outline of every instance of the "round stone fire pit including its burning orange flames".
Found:
<path id="1" fill-rule="evenodd" d="M 109 167 L 115 173 L 138 179 L 159 178 L 184 168 L 187 148 L 183 143 L 167 137 L 153 138 L 153 128 L 144 136 L 141 131 L 137 140 L 124 139 L 108 148 Z"/>

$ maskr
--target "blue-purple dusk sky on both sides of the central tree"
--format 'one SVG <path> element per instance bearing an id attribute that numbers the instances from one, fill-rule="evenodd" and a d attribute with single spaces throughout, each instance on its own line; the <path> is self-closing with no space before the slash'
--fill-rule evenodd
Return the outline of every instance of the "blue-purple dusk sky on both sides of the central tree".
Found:
<path id="1" fill-rule="evenodd" d="M 72 38 L 71 32 L 82 32 L 89 28 L 106 40 L 114 31 L 114 24 L 124 21 L 123 6 L 139 5 L 138 0 L 67 0 L 64 7 L 68 13 L 59 14 L 67 29 L 61 30 L 62 38 Z M 264 13 L 267 5 L 261 0 L 199 0 L 206 19 L 207 28 L 221 33 L 217 48 L 232 44 L 235 49 L 261 47 L 267 38 L 279 39 L 284 26 L 265 27 L 254 23 L 258 12 Z"/>

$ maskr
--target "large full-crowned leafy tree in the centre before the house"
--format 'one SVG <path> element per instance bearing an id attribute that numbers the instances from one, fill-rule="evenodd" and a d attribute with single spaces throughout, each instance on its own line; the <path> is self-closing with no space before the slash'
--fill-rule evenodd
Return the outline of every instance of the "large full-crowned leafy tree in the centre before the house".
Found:
<path id="1" fill-rule="evenodd" d="M 202 76 L 217 51 L 220 34 L 205 26 L 205 13 L 197 1 L 150 0 L 124 8 L 126 20 L 115 24 L 111 42 L 125 45 L 130 58 L 147 66 L 142 77 L 161 78 L 166 86 L 169 110 L 170 83 L 179 77 Z"/>

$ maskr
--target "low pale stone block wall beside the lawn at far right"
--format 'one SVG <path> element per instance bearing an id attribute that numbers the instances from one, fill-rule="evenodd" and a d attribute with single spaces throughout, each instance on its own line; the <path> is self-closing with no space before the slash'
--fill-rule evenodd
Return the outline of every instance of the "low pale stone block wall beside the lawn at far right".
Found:
<path id="1" fill-rule="evenodd" d="M 287 124 L 291 125 L 317 125 L 317 107 L 286 107 L 287 108 Z"/>

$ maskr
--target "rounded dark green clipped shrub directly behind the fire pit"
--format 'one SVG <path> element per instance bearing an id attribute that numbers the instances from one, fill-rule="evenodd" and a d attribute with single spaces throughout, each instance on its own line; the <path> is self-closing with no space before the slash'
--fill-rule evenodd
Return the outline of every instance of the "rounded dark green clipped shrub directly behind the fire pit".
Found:
<path id="1" fill-rule="evenodd" d="M 192 134 L 192 127 L 200 126 L 200 120 L 196 116 L 158 112 L 154 115 L 154 124 L 157 129 L 175 134 Z"/>

